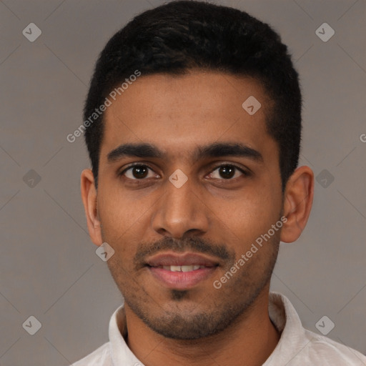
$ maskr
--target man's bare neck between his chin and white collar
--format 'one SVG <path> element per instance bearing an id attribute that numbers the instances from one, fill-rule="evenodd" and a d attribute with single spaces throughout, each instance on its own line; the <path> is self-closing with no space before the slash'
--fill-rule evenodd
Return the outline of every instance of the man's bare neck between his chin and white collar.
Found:
<path id="1" fill-rule="evenodd" d="M 269 289 L 234 324 L 199 340 L 172 340 L 158 335 L 125 304 L 127 345 L 146 366 L 259 366 L 273 352 L 280 334 L 268 315 Z"/>

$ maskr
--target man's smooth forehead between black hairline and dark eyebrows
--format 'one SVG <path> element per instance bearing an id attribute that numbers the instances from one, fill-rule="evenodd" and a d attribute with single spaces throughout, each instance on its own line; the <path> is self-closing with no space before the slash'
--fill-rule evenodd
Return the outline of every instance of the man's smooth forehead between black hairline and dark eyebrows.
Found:
<path id="1" fill-rule="evenodd" d="M 243 103 L 259 109 L 249 114 Z M 220 141 L 265 148 L 273 144 L 265 125 L 269 103 L 254 79 L 202 71 L 142 74 L 104 112 L 101 162 L 125 143 L 154 144 L 171 157 Z"/>

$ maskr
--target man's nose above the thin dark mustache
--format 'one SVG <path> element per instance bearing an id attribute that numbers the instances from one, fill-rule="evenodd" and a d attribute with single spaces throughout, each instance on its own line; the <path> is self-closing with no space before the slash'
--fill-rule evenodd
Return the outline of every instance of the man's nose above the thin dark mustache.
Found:
<path id="1" fill-rule="evenodd" d="M 175 239 L 181 239 L 188 232 L 195 235 L 207 232 L 209 209 L 203 202 L 202 194 L 194 189 L 192 179 L 188 178 L 179 188 L 169 180 L 165 184 L 165 193 L 157 202 L 152 217 L 154 231 Z"/>

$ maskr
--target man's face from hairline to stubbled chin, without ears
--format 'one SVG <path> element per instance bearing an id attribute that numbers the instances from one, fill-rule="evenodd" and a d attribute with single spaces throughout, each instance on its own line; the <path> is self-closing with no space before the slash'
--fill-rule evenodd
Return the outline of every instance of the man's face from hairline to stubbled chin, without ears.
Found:
<path id="1" fill-rule="evenodd" d="M 257 81 L 192 71 L 142 75 L 104 114 L 94 242 L 115 251 L 125 306 L 165 337 L 224 330 L 268 290 L 283 208 L 269 112 Z"/>

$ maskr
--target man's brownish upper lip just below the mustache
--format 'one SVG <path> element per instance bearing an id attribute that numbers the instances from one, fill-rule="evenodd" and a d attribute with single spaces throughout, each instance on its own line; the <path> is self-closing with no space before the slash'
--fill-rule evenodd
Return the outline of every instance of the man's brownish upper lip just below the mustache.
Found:
<path id="1" fill-rule="evenodd" d="M 160 253 L 148 258 L 146 264 L 150 267 L 159 266 L 184 266 L 184 265 L 200 265 L 205 267 L 215 267 L 219 263 L 213 259 L 209 259 L 203 254 L 186 252 L 184 254 L 177 253 Z"/>

